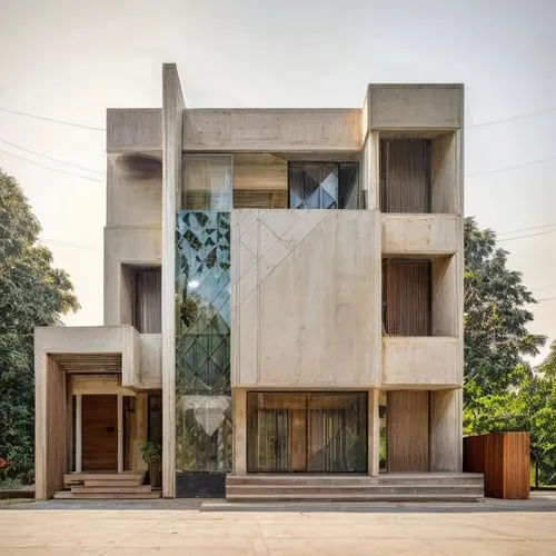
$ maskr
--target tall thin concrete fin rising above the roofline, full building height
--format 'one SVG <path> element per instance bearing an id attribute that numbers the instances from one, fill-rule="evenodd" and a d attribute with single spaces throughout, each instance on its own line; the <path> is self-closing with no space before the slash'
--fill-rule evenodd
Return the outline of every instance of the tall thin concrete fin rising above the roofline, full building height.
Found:
<path id="1" fill-rule="evenodd" d="M 162 66 L 162 496 L 176 496 L 176 197 L 181 189 L 183 96 L 175 63 Z"/>

